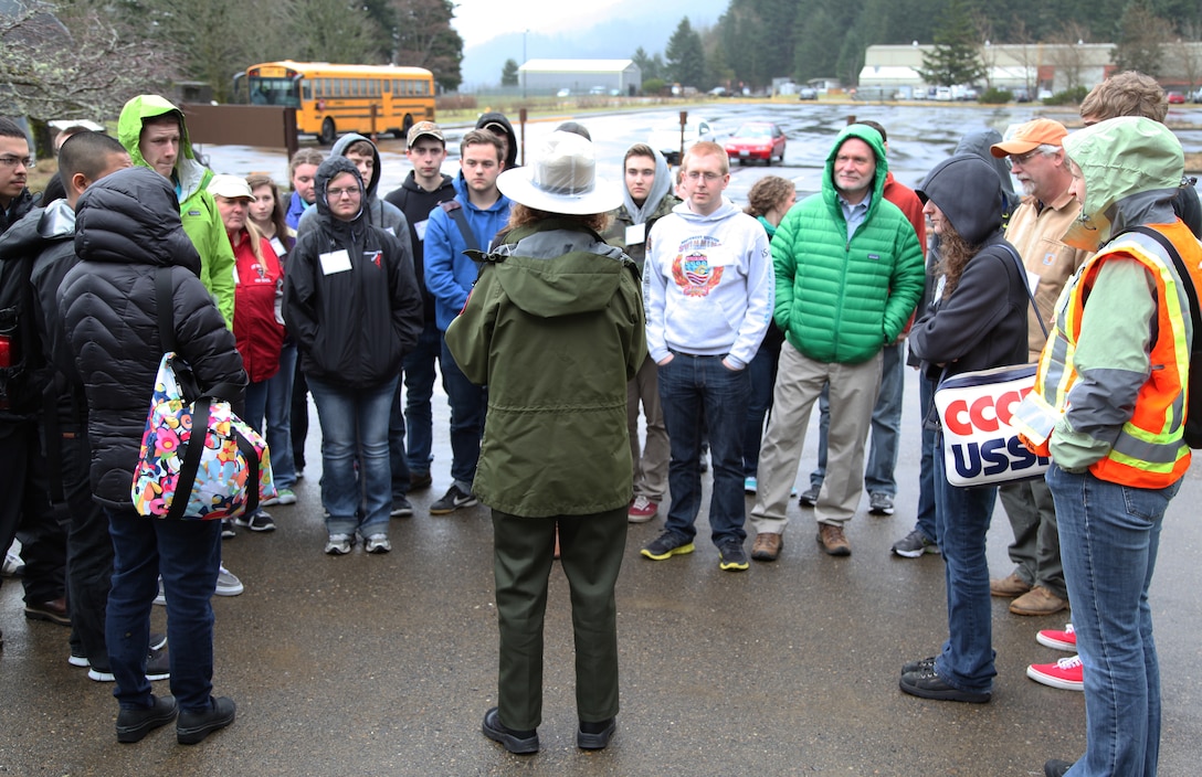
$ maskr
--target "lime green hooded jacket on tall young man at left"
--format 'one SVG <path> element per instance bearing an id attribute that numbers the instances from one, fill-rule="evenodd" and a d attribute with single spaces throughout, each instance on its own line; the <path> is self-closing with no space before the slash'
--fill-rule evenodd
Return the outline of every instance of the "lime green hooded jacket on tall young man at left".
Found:
<path id="1" fill-rule="evenodd" d="M 117 137 L 130 153 L 135 165 L 150 167 L 142 156 L 138 141 L 142 137 L 142 124 L 147 119 L 163 114 L 175 114 L 179 119 L 179 157 L 172 174 L 172 184 L 179 197 L 179 217 L 184 222 L 184 232 L 192 239 L 196 252 L 201 255 L 201 281 L 209 289 L 218 310 L 225 317 L 226 325 L 233 328 L 233 247 L 226 235 L 221 214 L 216 202 L 208 192 L 213 171 L 196 161 L 192 143 L 188 138 L 188 125 L 184 113 L 168 100 L 159 95 L 139 95 L 125 103 L 117 122 Z M 153 168 L 151 168 L 153 169 Z"/>

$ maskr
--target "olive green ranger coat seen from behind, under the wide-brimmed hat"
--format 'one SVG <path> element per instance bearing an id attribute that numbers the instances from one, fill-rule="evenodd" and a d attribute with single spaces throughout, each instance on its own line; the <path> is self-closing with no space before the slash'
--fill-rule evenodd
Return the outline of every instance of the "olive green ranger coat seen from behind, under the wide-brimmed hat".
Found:
<path id="1" fill-rule="evenodd" d="M 484 258 L 446 333 L 488 418 L 472 491 L 512 515 L 589 515 L 631 495 L 626 382 L 647 357 L 633 263 L 549 219 Z"/>

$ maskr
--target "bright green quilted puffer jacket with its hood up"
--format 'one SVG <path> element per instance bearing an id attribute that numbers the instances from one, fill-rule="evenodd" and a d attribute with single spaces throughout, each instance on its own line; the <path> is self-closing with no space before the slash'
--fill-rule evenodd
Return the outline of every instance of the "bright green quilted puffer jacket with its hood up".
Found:
<path id="1" fill-rule="evenodd" d="M 849 138 L 876 154 L 868 217 L 847 240 L 834 189 L 834 159 Z M 888 165 L 881 136 L 864 125 L 839 133 L 822 193 L 790 210 L 772 239 L 774 318 L 790 343 L 817 361 L 857 364 L 902 333 L 922 294 L 922 250 L 905 214 L 883 197 Z"/>

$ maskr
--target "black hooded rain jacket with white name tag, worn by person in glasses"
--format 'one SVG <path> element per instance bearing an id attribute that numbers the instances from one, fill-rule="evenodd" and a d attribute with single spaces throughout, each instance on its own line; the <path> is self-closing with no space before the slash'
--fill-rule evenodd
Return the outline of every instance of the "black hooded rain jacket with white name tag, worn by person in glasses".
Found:
<path id="1" fill-rule="evenodd" d="M 351 173 L 363 191 L 346 157 L 331 157 L 317 168 L 317 228 L 300 235 L 288 255 L 284 321 L 300 348 L 305 375 L 371 388 L 397 377 L 401 357 L 417 345 L 422 297 L 413 264 L 392 235 L 368 223 L 362 210 L 351 221 L 329 213 L 326 190 L 343 173 Z M 345 259 L 334 258 L 339 251 Z M 343 269 L 346 262 L 350 269 Z"/>

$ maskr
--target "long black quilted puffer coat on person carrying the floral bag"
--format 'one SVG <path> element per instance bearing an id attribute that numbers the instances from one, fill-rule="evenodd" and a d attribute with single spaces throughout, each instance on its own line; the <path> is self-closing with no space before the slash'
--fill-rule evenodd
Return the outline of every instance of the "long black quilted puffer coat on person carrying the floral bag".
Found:
<path id="1" fill-rule="evenodd" d="M 245 385 L 246 375 L 233 333 L 198 277 L 200 256 L 162 175 L 132 167 L 88 189 L 76 204 L 75 246 L 82 261 L 63 279 L 58 301 L 88 396 L 93 496 L 129 508 L 162 358 L 159 268 L 171 267 L 175 339 L 201 388 Z M 242 404 L 242 396 L 230 399 Z"/>

